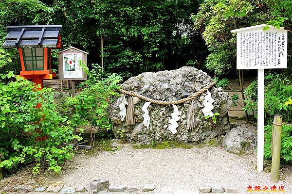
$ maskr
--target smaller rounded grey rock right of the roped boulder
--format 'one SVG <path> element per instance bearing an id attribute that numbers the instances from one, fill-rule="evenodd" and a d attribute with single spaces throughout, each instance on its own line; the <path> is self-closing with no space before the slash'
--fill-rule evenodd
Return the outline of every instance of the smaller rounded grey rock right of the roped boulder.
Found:
<path id="1" fill-rule="evenodd" d="M 255 151 L 256 133 L 254 128 L 236 127 L 230 129 L 223 140 L 226 151 L 234 154 L 250 154 Z"/>

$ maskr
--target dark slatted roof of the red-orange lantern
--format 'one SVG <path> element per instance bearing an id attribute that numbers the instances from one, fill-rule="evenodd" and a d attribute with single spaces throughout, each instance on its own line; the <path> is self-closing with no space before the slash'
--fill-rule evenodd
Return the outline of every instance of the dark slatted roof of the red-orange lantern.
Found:
<path id="1" fill-rule="evenodd" d="M 57 47 L 62 25 L 6 26 L 8 34 L 3 47 L 53 48 Z"/>

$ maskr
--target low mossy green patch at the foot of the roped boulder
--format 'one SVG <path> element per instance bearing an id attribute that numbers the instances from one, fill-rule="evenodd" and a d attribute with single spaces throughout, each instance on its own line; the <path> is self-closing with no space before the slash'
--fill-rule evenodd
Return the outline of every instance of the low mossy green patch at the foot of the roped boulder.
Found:
<path id="1" fill-rule="evenodd" d="M 173 149 L 173 148 L 184 148 L 190 149 L 193 148 L 193 145 L 177 142 L 177 141 L 163 141 L 163 142 L 154 142 L 152 141 L 149 145 L 134 145 L 136 149 L 145 149 L 145 148 L 152 148 L 152 149 Z"/>

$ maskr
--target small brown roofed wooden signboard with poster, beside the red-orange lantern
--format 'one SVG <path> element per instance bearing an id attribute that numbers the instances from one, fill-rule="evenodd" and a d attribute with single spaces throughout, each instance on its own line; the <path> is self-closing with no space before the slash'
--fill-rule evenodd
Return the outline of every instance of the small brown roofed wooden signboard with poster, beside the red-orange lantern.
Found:
<path id="1" fill-rule="evenodd" d="M 58 52 L 59 80 L 87 80 L 86 72 L 79 63 L 81 60 L 87 65 L 87 54 L 74 47 Z"/>

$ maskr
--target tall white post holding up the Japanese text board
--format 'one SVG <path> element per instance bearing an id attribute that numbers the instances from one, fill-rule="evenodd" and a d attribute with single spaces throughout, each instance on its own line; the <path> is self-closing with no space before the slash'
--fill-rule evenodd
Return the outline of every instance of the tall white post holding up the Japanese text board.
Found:
<path id="1" fill-rule="evenodd" d="M 265 69 L 257 69 L 257 172 L 264 169 Z"/>

